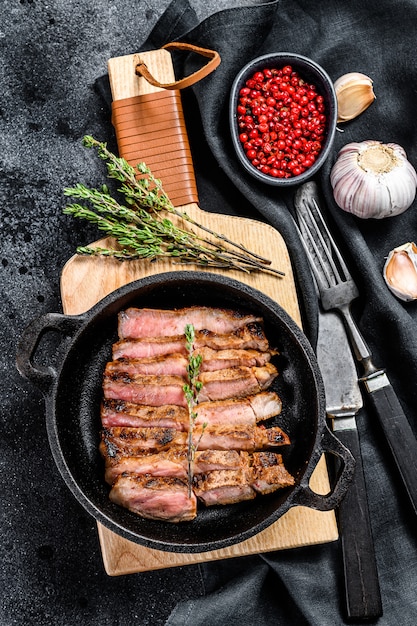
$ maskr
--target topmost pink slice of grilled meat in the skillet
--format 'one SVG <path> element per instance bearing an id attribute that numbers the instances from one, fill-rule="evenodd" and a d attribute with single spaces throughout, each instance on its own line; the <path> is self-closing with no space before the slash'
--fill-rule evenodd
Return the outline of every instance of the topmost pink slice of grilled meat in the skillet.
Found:
<path id="1" fill-rule="evenodd" d="M 232 333 L 250 322 L 260 322 L 256 315 L 205 306 L 184 309 L 138 309 L 131 307 L 119 313 L 119 337 L 172 337 L 184 333 L 192 324 L 195 330 L 209 330 L 219 335 Z"/>

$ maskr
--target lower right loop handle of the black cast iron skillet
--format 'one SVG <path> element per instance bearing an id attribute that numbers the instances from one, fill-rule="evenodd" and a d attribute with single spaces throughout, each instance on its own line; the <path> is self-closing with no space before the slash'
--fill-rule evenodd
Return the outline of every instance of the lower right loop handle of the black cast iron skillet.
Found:
<path id="1" fill-rule="evenodd" d="M 323 452 L 339 457 L 343 463 L 335 485 L 329 493 L 322 495 L 312 491 L 308 484 L 305 484 L 297 494 L 296 504 L 318 511 L 331 511 L 340 504 L 349 489 L 356 462 L 350 451 L 335 437 L 327 425 L 323 429 L 321 447 Z"/>

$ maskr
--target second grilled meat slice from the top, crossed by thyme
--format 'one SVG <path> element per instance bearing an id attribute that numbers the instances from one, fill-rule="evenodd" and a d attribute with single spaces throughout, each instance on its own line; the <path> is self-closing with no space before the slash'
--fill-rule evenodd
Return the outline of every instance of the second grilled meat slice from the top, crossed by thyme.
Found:
<path id="1" fill-rule="evenodd" d="M 258 322 L 246 324 L 233 333 L 219 335 L 209 330 L 195 333 L 196 350 L 208 347 L 212 350 L 259 350 L 269 348 L 262 325 Z M 113 345 L 113 359 L 142 358 L 164 354 L 187 354 L 184 334 L 175 337 L 144 337 L 122 339 Z"/>

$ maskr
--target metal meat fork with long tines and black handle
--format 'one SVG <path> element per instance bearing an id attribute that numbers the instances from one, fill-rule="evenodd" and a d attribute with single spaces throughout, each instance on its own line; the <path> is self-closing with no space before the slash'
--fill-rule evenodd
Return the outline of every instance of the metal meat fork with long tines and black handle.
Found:
<path id="1" fill-rule="evenodd" d="M 417 514 L 417 440 L 384 369 L 372 354 L 350 312 L 358 289 L 320 212 L 317 186 L 308 182 L 298 191 L 297 215 L 304 245 L 324 310 L 342 315 L 356 359 L 363 367 L 360 379 L 379 418 L 411 504 Z"/>

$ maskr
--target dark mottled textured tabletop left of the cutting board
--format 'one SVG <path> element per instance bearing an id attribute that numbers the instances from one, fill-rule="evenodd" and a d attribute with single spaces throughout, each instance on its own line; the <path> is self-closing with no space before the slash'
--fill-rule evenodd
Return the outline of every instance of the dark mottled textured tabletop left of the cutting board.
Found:
<path id="1" fill-rule="evenodd" d="M 43 398 L 14 367 L 26 324 L 61 310 L 64 263 L 77 244 L 97 238 L 95 229 L 62 215 L 65 186 L 103 182 L 83 135 L 114 145 L 94 82 L 109 58 L 139 48 L 168 4 L 0 3 L 2 626 L 158 625 L 178 600 L 201 593 L 194 567 L 105 574 L 95 522 L 52 460 Z M 220 3 L 194 4 L 204 12 Z"/>

